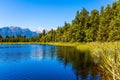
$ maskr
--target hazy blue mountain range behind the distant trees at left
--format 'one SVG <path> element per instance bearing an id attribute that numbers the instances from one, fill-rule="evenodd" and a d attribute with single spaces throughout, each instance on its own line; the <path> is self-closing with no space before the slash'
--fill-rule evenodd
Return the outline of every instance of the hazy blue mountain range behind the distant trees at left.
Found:
<path id="1" fill-rule="evenodd" d="M 30 38 L 33 36 L 37 36 L 38 33 L 33 32 L 28 28 L 22 29 L 20 27 L 3 27 L 3 28 L 0 28 L 0 35 L 3 38 L 5 38 L 6 36 L 15 36 L 16 37 L 17 35 L 26 36 L 27 38 Z"/>

